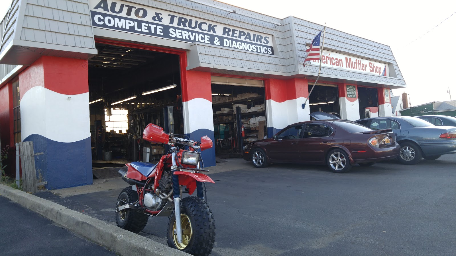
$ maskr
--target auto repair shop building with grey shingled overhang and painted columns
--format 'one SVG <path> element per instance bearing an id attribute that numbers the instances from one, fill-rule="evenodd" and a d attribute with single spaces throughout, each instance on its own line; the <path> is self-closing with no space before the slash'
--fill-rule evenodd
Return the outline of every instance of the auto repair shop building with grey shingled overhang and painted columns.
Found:
<path id="1" fill-rule="evenodd" d="M 211 166 L 310 112 L 390 116 L 389 90 L 406 86 L 390 47 L 329 27 L 309 97 L 319 63 L 302 62 L 322 29 L 213 0 L 13 0 L 0 24 L 1 145 L 32 141 L 56 189 L 91 184 L 97 161 L 165 154 L 140 139 L 148 123 L 208 135 Z"/>

